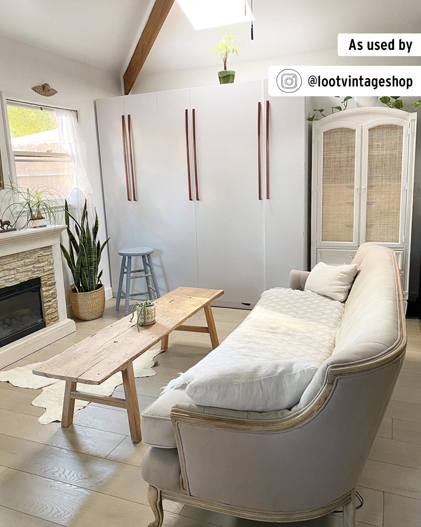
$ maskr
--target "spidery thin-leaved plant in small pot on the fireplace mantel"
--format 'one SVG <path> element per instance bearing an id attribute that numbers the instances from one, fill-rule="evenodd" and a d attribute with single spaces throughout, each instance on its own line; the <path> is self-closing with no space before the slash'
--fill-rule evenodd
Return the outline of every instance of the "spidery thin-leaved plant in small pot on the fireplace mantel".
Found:
<path id="1" fill-rule="evenodd" d="M 21 228 L 24 229 L 34 220 L 48 219 L 50 225 L 54 225 L 61 202 L 61 196 L 47 187 L 24 189 L 12 183 L 5 188 L 0 210 L 4 217 L 11 218 L 14 226 L 23 220 Z"/>

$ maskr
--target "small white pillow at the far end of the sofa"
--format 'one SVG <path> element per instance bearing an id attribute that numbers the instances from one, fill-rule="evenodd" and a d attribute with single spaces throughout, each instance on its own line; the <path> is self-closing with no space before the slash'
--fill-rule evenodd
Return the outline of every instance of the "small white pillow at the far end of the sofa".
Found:
<path id="1" fill-rule="evenodd" d="M 345 302 L 357 271 L 357 264 L 327 265 L 318 262 L 308 275 L 304 290 Z"/>

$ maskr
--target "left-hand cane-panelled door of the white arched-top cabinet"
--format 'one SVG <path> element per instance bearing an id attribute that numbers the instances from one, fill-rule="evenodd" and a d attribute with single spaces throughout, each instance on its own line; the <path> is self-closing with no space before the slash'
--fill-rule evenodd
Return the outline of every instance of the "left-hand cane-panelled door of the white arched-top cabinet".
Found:
<path id="1" fill-rule="evenodd" d="M 317 246 L 359 245 L 361 126 L 338 122 L 317 135 Z"/>

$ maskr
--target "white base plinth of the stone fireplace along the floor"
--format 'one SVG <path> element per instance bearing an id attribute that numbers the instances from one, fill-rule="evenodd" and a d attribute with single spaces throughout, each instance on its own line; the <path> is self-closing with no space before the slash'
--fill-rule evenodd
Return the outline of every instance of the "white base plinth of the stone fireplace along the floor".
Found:
<path id="1" fill-rule="evenodd" d="M 66 318 L 0 348 L 0 369 L 76 331 L 75 321 Z"/>

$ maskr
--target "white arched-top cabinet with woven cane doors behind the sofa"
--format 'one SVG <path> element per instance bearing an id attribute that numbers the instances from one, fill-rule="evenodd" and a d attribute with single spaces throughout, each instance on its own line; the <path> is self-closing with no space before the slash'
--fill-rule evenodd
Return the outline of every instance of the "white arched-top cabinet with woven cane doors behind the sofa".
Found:
<path id="1" fill-rule="evenodd" d="M 313 123 L 312 267 L 364 242 L 395 250 L 408 298 L 416 113 L 357 108 Z"/>

